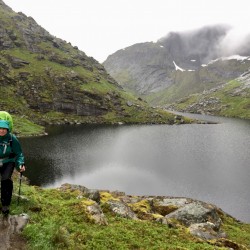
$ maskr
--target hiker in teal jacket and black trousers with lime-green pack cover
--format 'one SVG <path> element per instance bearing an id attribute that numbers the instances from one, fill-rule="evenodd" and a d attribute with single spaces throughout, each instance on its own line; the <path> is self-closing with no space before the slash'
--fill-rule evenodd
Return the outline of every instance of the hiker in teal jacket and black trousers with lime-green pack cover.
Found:
<path id="1" fill-rule="evenodd" d="M 9 113 L 0 111 L 1 203 L 4 215 L 9 214 L 13 191 L 11 176 L 14 168 L 19 172 L 25 171 L 22 148 L 16 136 L 11 133 L 12 127 L 12 118 Z"/>

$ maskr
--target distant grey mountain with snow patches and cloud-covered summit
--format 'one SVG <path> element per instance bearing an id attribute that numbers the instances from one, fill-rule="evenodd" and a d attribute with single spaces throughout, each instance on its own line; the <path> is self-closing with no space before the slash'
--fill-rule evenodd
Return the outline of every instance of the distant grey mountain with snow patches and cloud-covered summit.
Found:
<path id="1" fill-rule="evenodd" d="M 103 65 L 120 85 L 151 104 L 169 104 L 218 87 L 248 71 L 249 36 L 229 43 L 230 32 L 225 25 L 170 32 L 156 43 L 119 50 Z"/>

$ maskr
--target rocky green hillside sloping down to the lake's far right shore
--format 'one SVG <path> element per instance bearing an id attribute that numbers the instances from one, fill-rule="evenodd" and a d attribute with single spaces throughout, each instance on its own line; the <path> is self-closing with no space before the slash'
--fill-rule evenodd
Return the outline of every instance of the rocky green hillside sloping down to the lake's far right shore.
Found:
<path id="1" fill-rule="evenodd" d="M 233 80 L 206 93 L 190 95 L 167 107 L 191 113 L 250 119 L 250 88 L 246 83 Z"/>

